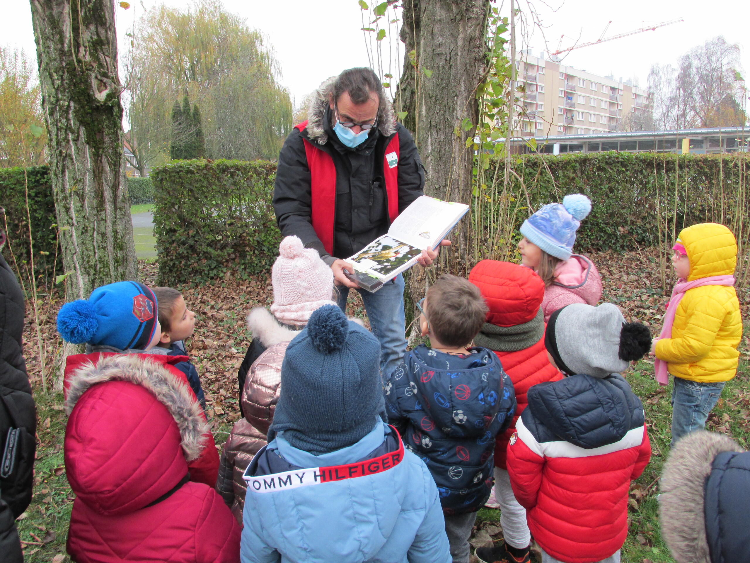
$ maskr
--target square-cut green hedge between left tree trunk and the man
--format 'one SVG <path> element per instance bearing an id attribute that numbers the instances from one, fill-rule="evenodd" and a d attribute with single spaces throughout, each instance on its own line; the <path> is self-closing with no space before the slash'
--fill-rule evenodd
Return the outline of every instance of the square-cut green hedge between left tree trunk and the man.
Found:
<path id="1" fill-rule="evenodd" d="M 267 161 L 198 159 L 154 169 L 159 283 L 201 284 L 269 269 L 281 239 L 275 174 Z"/>

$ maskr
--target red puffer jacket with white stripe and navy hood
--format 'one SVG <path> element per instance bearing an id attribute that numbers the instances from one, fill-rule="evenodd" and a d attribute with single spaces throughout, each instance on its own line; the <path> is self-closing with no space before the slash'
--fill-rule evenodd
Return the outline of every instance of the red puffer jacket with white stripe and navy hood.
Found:
<path id="1" fill-rule="evenodd" d="M 508 473 L 529 529 L 560 561 L 591 563 L 622 547 L 630 481 L 651 445 L 643 405 L 621 375 L 535 385 L 508 443 Z"/>

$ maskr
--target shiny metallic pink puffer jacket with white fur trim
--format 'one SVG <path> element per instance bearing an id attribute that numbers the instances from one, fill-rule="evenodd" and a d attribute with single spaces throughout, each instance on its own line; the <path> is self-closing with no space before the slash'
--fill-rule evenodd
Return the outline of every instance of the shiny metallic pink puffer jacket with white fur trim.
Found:
<path id="1" fill-rule="evenodd" d="M 296 330 L 282 327 L 271 313 L 262 308 L 253 309 L 248 316 L 248 327 L 253 337 L 263 342 L 266 351 L 260 354 L 248 372 L 240 396 L 245 418 L 234 424 L 223 446 L 216 482 L 217 492 L 232 509 L 240 525 L 246 491 L 242 474 L 255 454 L 266 445 L 266 434 L 279 399 L 281 363 L 287 345 L 298 334 Z"/>

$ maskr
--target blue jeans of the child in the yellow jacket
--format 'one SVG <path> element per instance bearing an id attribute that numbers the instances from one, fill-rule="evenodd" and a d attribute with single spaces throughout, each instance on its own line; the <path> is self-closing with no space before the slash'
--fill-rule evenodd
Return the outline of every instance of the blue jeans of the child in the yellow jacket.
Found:
<path id="1" fill-rule="evenodd" d="M 706 419 L 718 401 L 725 381 L 698 383 L 682 378 L 672 378 L 672 441 L 694 430 L 706 427 Z"/>

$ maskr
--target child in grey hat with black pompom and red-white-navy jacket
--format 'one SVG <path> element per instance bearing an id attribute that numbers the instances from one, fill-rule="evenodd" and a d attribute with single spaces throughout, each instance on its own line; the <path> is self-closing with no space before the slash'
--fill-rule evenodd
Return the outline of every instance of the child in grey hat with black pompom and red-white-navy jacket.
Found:
<path id="1" fill-rule="evenodd" d="M 619 561 L 630 482 L 651 457 L 643 405 L 619 372 L 650 340 L 612 303 L 574 303 L 550 317 L 544 345 L 568 377 L 529 389 L 507 459 L 542 563 Z"/>

